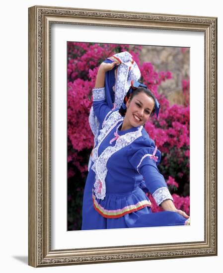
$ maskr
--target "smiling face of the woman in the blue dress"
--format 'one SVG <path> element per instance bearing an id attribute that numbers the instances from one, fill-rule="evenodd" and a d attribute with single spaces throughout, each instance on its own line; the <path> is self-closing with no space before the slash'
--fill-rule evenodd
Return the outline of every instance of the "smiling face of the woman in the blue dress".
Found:
<path id="1" fill-rule="evenodd" d="M 122 130 L 144 125 L 154 108 L 154 100 L 145 92 L 140 92 L 126 103 L 127 111 L 123 121 Z"/>

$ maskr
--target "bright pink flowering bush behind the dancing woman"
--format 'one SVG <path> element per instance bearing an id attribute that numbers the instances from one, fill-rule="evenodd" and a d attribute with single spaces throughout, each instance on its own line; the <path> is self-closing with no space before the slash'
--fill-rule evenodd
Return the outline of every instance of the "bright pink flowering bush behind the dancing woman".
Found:
<path id="1" fill-rule="evenodd" d="M 122 51 L 132 54 L 142 78 L 157 97 L 161 108 L 158 119 L 145 126 L 162 152 L 160 172 L 166 179 L 177 208 L 189 214 L 189 80 L 182 82 L 185 105 L 169 105 L 158 93 L 161 82 L 172 78 L 170 71 L 155 71 L 140 61 L 141 46 L 68 42 L 68 229 L 80 229 L 82 194 L 89 154 L 93 148 L 88 116 L 97 70 L 107 57 Z M 152 211 L 161 210 L 151 195 Z"/>

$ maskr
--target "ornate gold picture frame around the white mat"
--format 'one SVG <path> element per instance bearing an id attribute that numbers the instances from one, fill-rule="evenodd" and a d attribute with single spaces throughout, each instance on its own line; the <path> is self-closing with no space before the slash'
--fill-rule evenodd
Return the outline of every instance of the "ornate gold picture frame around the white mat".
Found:
<path id="1" fill-rule="evenodd" d="M 205 34 L 205 240 L 51 250 L 51 23 Z M 217 255 L 217 18 L 65 7 L 29 8 L 29 258 L 33 267 Z"/>

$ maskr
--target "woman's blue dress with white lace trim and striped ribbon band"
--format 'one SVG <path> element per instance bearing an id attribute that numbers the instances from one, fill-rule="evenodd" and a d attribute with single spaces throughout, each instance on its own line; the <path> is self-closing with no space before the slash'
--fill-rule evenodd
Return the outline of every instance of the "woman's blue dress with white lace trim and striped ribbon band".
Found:
<path id="1" fill-rule="evenodd" d="M 120 131 L 123 117 L 108 107 L 104 88 L 93 89 L 93 110 L 101 130 L 84 188 L 81 229 L 186 224 L 179 213 L 151 212 L 142 183 L 157 205 L 173 199 L 157 169 L 160 151 L 143 126 Z"/>

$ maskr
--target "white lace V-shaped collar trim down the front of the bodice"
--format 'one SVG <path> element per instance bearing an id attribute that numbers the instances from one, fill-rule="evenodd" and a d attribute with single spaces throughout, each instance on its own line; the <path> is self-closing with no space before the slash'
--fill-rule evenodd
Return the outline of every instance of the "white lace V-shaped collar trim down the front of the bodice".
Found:
<path id="1" fill-rule="evenodd" d="M 98 199 L 104 199 L 106 195 L 105 177 L 107 175 L 107 161 L 112 154 L 118 150 L 131 144 L 136 138 L 142 136 L 143 126 L 139 128 L 138 131 L 127 133 L 123 136 L 119 136 L 116 140 L 115 146 L 108 146 L 100 156 L 98 156 L 98 148 L 103 141 L 103 139 L 111 132 L 111 130 L 118 124 L 123 117 L 118 111 L 115 111 L 108 118 L 103 129 L 100 130 L 100 135 L 98 136 L 98 145 L 93 150 L 92 160 L 94 164 L 92 165 L 92 170 L 95 172 L 95 183 L 94 183 L 94 193 Z"/>

